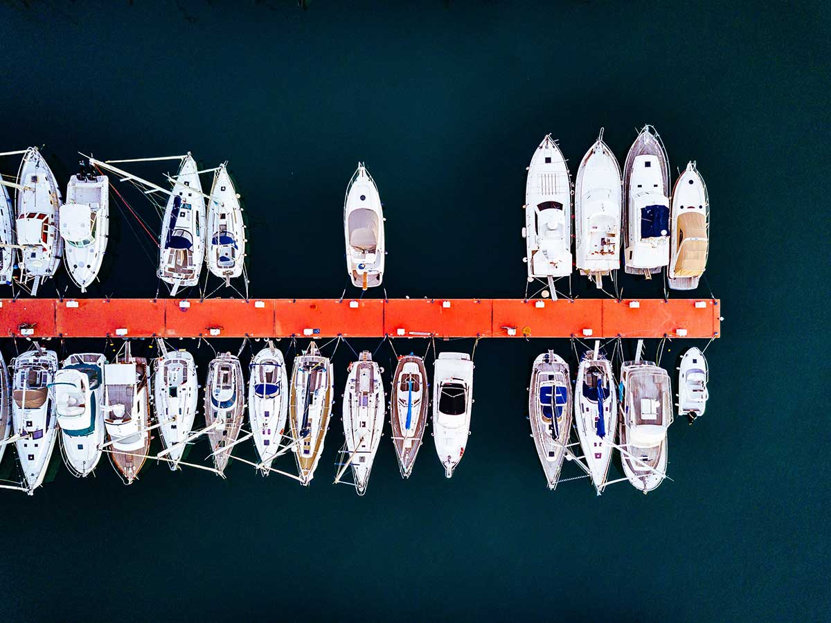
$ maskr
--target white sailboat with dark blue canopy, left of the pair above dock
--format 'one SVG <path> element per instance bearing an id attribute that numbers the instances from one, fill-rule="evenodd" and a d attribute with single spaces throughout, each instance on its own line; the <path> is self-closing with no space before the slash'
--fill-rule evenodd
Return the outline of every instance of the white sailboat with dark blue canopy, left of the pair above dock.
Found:
<path id="1" fill-rule="evenodd" d="M 159 278 L 169 283 L 171 296 L 199 283 L 204 260 L 205 202 L 199 170 L 185 155 L 161 223 Z"/>

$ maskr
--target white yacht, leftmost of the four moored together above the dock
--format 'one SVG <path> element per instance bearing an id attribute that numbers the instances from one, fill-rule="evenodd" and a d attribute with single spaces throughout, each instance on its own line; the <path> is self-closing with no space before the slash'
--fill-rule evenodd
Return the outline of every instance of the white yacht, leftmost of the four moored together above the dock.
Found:
<path id="1" fill-rule="evenodd" d="M 531 158 L 524 208 L 523 238 L 529 281 L 570 275 L 571 176 L 563 152 L 551 135 L 545 136 Z"/>

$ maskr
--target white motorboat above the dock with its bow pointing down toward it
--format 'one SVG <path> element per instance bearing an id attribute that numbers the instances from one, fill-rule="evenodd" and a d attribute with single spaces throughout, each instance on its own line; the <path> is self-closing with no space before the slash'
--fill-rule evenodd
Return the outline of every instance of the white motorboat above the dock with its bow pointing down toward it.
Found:
<path id="1" fill-rule="evenodd" d="M 110 235 L 110 181 L 106 175 L 76 174 L 66 184 L 61 206 L 64 265 L 72 281 L 86 292 L 98 277 Z"/>

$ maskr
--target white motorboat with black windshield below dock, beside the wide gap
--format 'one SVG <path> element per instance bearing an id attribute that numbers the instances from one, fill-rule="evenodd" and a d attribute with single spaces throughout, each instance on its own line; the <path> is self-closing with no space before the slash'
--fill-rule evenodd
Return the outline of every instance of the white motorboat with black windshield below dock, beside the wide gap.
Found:
<path id="1" fill-rule="evenodd" d="M 450 478 L 465 454 L 473 405 L 473 361 L 459 352 L 440 353 L 433 368 L 433 441 Z"/>

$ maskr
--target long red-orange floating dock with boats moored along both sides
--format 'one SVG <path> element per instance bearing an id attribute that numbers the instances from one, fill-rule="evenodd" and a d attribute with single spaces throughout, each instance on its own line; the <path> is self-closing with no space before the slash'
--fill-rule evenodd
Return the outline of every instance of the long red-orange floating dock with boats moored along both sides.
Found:
<path id="1" fill-rule="evenodd" d="M 0 299 L 0 336 L 694 337 L 717 299 Z"/>

